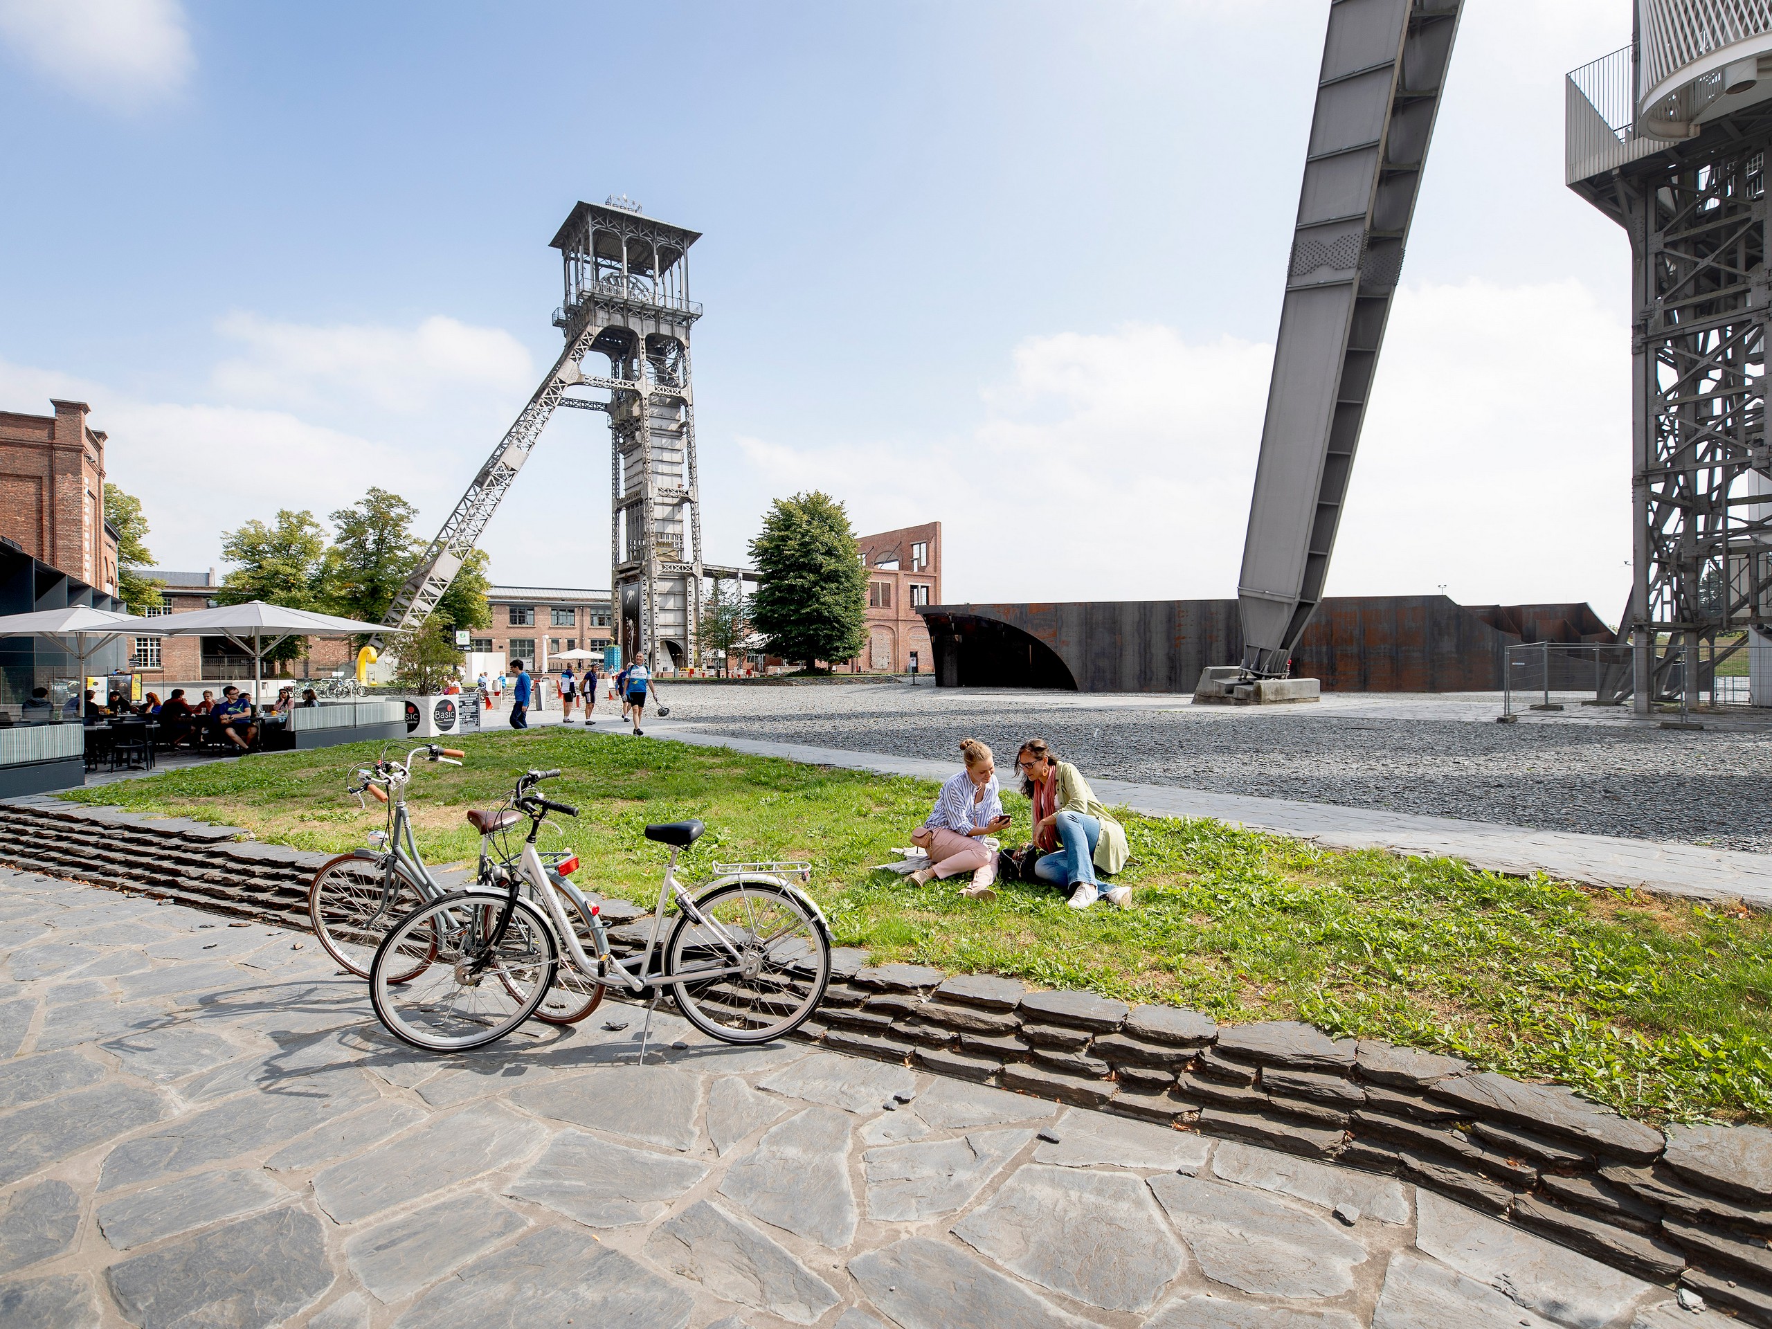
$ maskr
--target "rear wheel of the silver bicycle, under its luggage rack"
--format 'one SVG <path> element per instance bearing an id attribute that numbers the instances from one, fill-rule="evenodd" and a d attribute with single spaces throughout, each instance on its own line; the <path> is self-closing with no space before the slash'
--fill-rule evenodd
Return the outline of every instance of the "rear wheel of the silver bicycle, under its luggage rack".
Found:
<path id="1" fill-rule="evenodd" d="M 737 973 L 672 985 L 672 998 L 695 1028 L 728 1044 L 760 1044 L 797 1030 L 831 982 L 831 937 L 824 920 L 794 891 L 746 881 L 716 886 L 684 914 L 664 948 L 666 973 L 737 964 Z M 739 959 L 711 927 L 718 923 Z"/>

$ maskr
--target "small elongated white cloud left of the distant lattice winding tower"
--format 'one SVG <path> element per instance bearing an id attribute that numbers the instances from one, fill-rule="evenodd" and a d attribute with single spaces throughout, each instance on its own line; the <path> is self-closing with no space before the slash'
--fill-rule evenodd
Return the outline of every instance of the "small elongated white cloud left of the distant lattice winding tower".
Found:
<path id="1" fill-rule="evenodd" d="M 315 328 L 230 314 L 218 330 L 243 346 L 211 379 L 227 400 L 422 415 L 487 392 L 521 393 L 521 402 L 535 386 L 530 353 L 516 337 L 441 315 L 416 328 Z"/>

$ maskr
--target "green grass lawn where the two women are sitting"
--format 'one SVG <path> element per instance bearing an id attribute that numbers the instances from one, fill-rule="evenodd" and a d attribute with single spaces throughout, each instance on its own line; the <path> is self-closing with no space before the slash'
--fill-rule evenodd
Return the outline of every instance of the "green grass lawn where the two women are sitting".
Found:
<path id="1" fill-rule="evenodd" d="M 420 764 L 411 808 L 427 861 L 473 858 L 462 820 L 517 773 L 558 766 L 548 792 L 581 808 L 551 836 L 590 890 L 650 905 L 664 852 L 647 822 L 702 817 L 686 879 L 716 859 L 804 858 L 840 944 L 879 960 L 1017 975 L 1221 1021 L 1311 1021 L 1333 1033 L 1455 1053 L 1570 1084 L 1648 1120 L 1772 1122 L 1772 918 L 1703 904 L 1476 872 L 1451 859 L 1343 852 L 1212 820 L 1125 815 L 1136 907 L 1079 914 L 1056 891 L 918 890 L 868 865 L 925 817 L 930 781 L 831 771 L 583 730 L 487 734 L 464 767 Z M 390 748 L 392 750 L 392 748 Z M 374 744 L 280 753 L 76 790 L 342 851 L 381 824 L 344 796 Z M 1028 836 L 1028 804 L 1008 842 Z M 565 819 L 562 819 L 565 820 Z M 544 847 L 548 847 L 544 843 Z"/>

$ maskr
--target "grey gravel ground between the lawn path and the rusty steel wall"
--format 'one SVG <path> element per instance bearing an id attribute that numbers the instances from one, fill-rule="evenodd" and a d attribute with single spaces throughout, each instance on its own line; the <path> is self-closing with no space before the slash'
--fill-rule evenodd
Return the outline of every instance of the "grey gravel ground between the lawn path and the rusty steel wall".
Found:
<path id="1" fill-rule="evenodd" d="M 971 735 L 1001 771 L 1022 739 L 1044 737 L 1084 774 L 1772 852 L 1772 728 L 1761 725 L 1676 732 L 1575 712 L 1503 727 L 1490 723 L 1496 702 L 1469 696 L 1255 711 L 897 682 L 666 693 L 673 721 L 734 737 L 957 764 L 955 744 Z"/>

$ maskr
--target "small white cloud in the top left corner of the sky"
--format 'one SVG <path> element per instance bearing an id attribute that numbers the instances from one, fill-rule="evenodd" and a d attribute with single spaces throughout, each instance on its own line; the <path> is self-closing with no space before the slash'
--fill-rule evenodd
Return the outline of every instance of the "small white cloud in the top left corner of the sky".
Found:
<path id="1" fill-rule="evenodd" d="M 197 69 L 179 0 L 0 0 L 0 41 L 117 108 L 168 97 Z"/>

